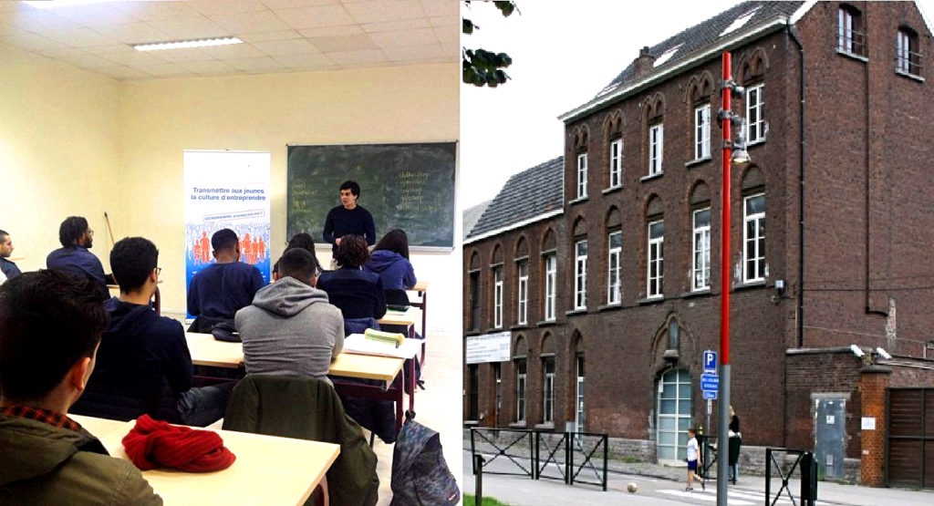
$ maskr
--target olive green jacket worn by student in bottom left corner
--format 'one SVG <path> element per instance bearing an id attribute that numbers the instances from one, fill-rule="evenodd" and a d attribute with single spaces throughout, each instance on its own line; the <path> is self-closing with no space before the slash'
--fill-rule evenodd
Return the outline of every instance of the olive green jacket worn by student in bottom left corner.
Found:
<path id="1" fill-rule="evenodd" d="M 162 504 L 129 460 L 86 430 L 0 415 L 0 504 Z"/>

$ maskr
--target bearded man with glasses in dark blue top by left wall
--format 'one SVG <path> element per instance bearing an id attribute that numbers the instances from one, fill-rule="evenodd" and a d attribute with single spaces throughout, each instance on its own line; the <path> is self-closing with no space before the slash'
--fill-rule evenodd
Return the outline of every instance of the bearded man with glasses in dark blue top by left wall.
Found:
<path id="1" fill-rule="evenodd" d="M 94 242 L 94 231 L 88 227 L 88 220 L 79 216 L 65 218 L 59 226 L 59 242 L 62 247 L 52 251 L 46 257 L 46 267 L 58 269 L 94 282 L 98 300 L 110 298 L 107 290 L 108 275 L 104 274 L 101 260 L 89 251 Z"/>

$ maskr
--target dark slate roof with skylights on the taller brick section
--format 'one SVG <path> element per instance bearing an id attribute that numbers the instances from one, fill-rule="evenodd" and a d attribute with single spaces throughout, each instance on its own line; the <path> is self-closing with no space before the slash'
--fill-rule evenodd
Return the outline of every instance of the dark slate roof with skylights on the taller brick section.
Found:
<path id="1" fill-rule="evenodd" d="M 657 67 L 653 68 L 650 73 L 640 78 L 648 77 L 663 72 L 672 66 L 676 66 L 702 50 L 715 45 L 715 43 L 719 42 L 723 37 L 743 34 L 744 32 L 753 32 L 757 28 L 769 24 L 771 21 L 788 18 L 804 4 L 805 2 L 759 1 L 743 2 L 742 4 L 730 7 L 713 18 L 702 21 L 680 34 L 673 35 L 663 42 L 650 47 L 649 53 L 655 56 L 656 59 L 665 54 L 669 49 L 677 48 L 677 50 L 672 54 L 671 58 L 659 64 Z M 736 21 L 738 18 L 742 17 L 743 14 L 747 14 L 753 10 L 756 11 L 755 14 L 749 21 L 746 21 L 743 26 L 729 32 L 729 34 L 720 35 L 733 21 Z M 636 80 L 635 63 L 633 62 L 623 69 L 615 79 L 610 81 L 610 84 L 597 93 L 594 100 L 591 102 L 596 101 L 608 93 L 625 88 L 626 85 Z"/>

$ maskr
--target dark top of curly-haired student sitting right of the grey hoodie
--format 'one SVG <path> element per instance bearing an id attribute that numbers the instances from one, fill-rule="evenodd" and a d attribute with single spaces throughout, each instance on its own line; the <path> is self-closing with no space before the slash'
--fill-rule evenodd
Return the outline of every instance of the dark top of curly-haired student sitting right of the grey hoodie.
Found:
<path id="1" fill-rule="evenodd" d="M 344 318 L 376 318 L 386 315 L 386 296 L 379 276 L 354 267 L 342 267 L 318 277 L 318 289 L 340 308 Z"/>

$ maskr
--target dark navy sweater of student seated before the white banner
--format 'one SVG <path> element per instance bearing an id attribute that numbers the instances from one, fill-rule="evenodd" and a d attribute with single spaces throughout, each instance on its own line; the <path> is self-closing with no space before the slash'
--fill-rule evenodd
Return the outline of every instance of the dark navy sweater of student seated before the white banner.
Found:
<path id="1" fill-rule="evenodd" d="M 233 320 L 240 308 L 253 302 L 263 285 L 260 270 L 248 263 L 212 263 L 191 278 L 188 313 Z"/>

